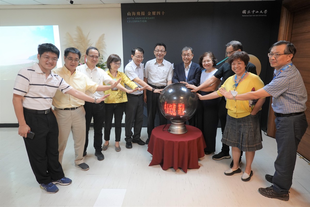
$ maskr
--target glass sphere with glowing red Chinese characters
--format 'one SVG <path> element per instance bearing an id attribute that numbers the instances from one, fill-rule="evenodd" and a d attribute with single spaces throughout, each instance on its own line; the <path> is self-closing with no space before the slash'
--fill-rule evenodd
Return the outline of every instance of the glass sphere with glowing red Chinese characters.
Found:
<path id="1" fill-rule="evenodd" d="M 159 96 L 159 108 L 170 121 L 187 121 L 197 110 L 198 96 L 184 83 L 168 85 Z"/>

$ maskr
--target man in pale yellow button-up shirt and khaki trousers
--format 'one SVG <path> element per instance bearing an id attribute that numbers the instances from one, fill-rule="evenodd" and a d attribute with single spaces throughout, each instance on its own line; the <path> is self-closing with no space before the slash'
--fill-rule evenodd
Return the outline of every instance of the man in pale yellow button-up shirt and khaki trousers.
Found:
<path id="1" fill-rule="evenodd" d="M 76 67 L 78 66 L 80 58 L 81 52 L 78 49 L 74 47 L 65 49 L 64 66 L 54 69 L 53 72 L 62 77 L 73 88 L 83 93 L 85 93 L 86 90 L 91 92 L 105 91 L 114 87 L 126 92 L 135 91 L 124 88 L 122 85 L 118 84 L 119 81 L 114 80 L 111 80 L 112 85 L 99 86 L 97 83 L 89 79 L 85 74 L 76 71 Z M 85 110 L 84 107 L 80 107 L 84 105 L 84 103 L 84 101 L 76 99 L 69 94 L 56 92 L 55 96 L 53 97 L 52 105 L 55 106 L 54 112 L 59 128 L 59 162 L 62 163 L 62 158 L 67 145 L 69 133 L 70 130 L 72 130 L 75 151 L 75 166 L 80 167 L 82 170 L 88 170 L 89 166 L 84 162 L 83 157 L 86 133 Z"/>

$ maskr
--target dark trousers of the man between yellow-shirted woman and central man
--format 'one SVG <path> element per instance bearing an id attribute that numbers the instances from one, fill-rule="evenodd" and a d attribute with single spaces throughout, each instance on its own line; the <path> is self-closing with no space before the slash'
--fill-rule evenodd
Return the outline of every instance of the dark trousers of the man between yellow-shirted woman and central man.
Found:
<path id="1" fill-rule="evenodd" d="M 141 129 L 143 124 L 143 94 L 134 95 L 127 94 L 127 102 L 125 102 L 125 141 L 132 142 L 141 137 Z M 132 133 L 134 127 L 134 133 Z"/>

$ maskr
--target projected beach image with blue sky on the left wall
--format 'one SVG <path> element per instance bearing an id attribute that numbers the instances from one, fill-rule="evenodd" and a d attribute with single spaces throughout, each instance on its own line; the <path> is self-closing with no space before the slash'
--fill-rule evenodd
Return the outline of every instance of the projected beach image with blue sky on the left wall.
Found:
<path id="1" fill-rule="evenodd" d="M 0 79 L 15 80 L 20 69 L 38 62 L 42 43 L 52 43 L 60 50 L 58 25 L 0 27 Z M 60 59 L 57 67 L 61 65 Z"/>

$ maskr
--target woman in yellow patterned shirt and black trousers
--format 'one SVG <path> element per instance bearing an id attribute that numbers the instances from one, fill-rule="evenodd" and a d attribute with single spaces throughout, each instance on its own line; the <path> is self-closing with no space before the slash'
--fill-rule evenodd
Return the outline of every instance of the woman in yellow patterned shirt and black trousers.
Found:
<path id="1" fill-rule="evenodd" d="M 114 80 L 121 78 L 120 84 L 124 86 L 124 83 L 130 88 L 138 88 L 138 86 L 132 82 L 123 72 L 118 71 L 118 68 L 122 65 L 121 58 L 118 55 L 112 54 L 108 57 L 107 67 L 109 70 L 106 73 Z M 145 88 L 145 87 L 144 87 Z M 138 88 L 139 91 L 144 88 Z M 126 92 L 120 91 L 117 88 L 112 88 L 104 91 L 104 94 L 110 94 L 109 98 L 104 101 L 105 105 L 105 116 L 104 116 L 104 145 L 103 150 L 108 149 L 110 133 L 112 128 L 112 119 L 114 115 L 115 124 L 115 150 L 121 151 L 119 142 L 121 141 L 122 133 L 122 119 L 125 110 L 125 102 L 127 101 Z"/>

